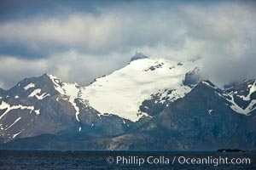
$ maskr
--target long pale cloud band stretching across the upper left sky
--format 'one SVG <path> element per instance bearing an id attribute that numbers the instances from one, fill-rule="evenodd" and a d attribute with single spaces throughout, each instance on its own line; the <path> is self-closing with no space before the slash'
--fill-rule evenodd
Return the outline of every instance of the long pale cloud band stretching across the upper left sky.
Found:
<path id="1" fill-rule="evenodd" d="M 18 42 L 38 53 L 52 46 L 78 48 L 92 54 L 124 51 L 142 45 L 172 44 L 174 48 L 183 42 L 183 31 L 175 20 L 165 23 L 160 15 L 148 20 L 147 14 L 138 11 L 137 18 L 126 13 L 108 13 L 100 16 L 71 14 L 66 20 L 14 21 L 0 26 L 0 40 L 9 44 Z"/>

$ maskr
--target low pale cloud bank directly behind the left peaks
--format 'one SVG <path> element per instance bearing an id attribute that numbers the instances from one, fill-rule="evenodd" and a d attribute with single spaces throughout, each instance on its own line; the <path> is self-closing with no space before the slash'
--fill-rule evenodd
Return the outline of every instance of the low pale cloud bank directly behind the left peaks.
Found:
<path id="1" fill-rule="evenodd" d="M 62 81 L 78 82 L 85 86 L 96 77 L 102 77 L 126 65 L 127 61 L 125 56 L 120 57 L 114 53 L 96 58 L 71 50 L 52 54 L 45 59 L 0 56 L 0 63 L 0 88 L 8 89 L 26 77 L 38 77 L 46 72 Z"/>

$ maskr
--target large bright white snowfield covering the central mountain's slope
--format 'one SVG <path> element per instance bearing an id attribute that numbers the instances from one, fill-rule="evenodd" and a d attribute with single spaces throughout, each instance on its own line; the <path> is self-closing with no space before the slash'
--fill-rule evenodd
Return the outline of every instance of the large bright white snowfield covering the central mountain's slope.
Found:
<path id="1" fill-rule="evenodd" d="M 133 59 L 129 65 L 105 77 L 97 78 L 85 87 L 79 96 L 88 100 L 97 111 L 138 121 L 146 112 L 139 106 L 151 95 L 161 94 L 172 101 L 183 98 L 191 88 L 183 85 L 185 75 L 199 67 L 196 62 L 171 61 L 166 59 Z"/>

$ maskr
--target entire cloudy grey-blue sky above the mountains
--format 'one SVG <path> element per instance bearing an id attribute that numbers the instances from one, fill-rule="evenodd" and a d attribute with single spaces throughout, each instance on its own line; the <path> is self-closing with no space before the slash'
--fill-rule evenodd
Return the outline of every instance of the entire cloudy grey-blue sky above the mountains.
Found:
<path id="1" fill-rule="evenodd" d="M 45 72 L 86 85 L 135 52 L 203 57 L 218 85 L 256 77 L 253 1 L 0 0 L 0 87 Z"/>

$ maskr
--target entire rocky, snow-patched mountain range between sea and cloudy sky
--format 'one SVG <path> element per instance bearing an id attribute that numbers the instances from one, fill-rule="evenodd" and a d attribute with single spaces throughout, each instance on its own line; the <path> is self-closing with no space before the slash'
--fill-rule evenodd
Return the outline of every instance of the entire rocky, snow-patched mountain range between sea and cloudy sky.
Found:
<path id="1" fill-rule="evenodd" d="M 200 63 L 137 53 L 86 87 L 44 74 L 0 88 L 0 149 L 256 149 L 256 81 L 218 88 Z"/>

